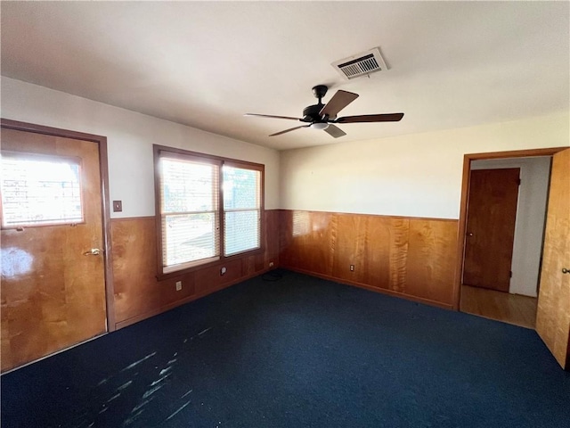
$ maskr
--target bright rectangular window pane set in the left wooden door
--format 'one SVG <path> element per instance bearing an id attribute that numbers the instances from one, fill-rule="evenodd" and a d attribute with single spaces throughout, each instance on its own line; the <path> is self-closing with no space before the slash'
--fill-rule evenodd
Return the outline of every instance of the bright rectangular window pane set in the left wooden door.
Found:
<path id="1" fill-rule="evenodd" d="M 2 227 L 83 221 L 79 159 L 2 152 Z"/>

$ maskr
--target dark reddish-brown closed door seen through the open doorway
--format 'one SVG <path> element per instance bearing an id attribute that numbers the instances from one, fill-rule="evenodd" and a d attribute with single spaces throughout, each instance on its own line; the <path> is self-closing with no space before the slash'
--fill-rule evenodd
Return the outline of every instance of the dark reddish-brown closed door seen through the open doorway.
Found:
<path id="1" fill-rule="evenodd" d="M 509 292 L 519 173 L 471 171 L 463 284 Z"/>

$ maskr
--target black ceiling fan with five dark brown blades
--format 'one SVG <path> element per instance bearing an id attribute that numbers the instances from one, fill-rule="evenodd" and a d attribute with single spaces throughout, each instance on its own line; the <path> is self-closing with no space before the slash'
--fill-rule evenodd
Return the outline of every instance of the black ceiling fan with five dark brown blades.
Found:
<path id="1" fill-rule="evenodd" d="M 270 114 L 246 113 L 244 116 L 256 116 L 260 118 L 273 119 L 289 119 L 305 122 L 307 125 L 301 125 L 295 128 L 285 129 L 276 132 L 271 136 L 281 136 L 290 131 L 300 128 L 323 129 L 330 136 L 338 138 L 346 136 L 346 132 L 335 126 L 335 123 L 357 123 L 357 122 L 397 122 L 403 118 L 403 113 L 388 114 L 364 114 L 360 116 L 345 116 L 337 118 L 338 112 L 344 109 L 348 104 L 352 103 L 358 94 L 338 90 L 335 95 L 330 98 L 329 103 L 323 104 L 322 97 L 327 94 L 329 87 L 326 85 L 317 85 L 313 87 L 313 94 L 319 100 L 319 103 L 309 105 L 303 111 L 303 118 L 291 118 L 289 116 L 273 116 Z"/>

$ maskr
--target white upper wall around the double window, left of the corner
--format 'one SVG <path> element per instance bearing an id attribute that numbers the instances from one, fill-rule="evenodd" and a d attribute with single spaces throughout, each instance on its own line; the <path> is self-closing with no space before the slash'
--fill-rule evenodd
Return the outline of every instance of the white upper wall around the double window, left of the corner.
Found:
<path id="1" fill-rule="evenodd" d="M 2 78 L 3 119 L 107 137 L 112 218 L 154 215 L 152 144 L 265 164 L 265 209 L 279 208 L 279 152 L 75 95 Z"/>

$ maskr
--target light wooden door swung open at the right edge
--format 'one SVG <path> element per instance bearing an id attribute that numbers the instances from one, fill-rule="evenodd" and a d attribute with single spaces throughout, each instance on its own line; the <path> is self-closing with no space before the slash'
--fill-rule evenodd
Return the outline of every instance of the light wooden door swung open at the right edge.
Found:
<path id="1" fill-rule="evenodd" d="M 552 159 L 536 331 L 570 370 L 570 149 Z"/>

